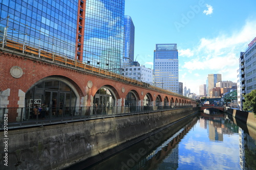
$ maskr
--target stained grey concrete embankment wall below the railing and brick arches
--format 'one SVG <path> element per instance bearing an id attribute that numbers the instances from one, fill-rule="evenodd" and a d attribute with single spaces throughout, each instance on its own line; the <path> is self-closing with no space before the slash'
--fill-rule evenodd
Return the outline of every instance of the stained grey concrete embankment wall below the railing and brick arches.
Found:
<path id="1" fill-rule="evenodd" d="M 9 130 L 8 166 L 1 145 L 1 169 L 61 169 L 84 160 L 90 165 L 196 111 L 186 108 Z"/>

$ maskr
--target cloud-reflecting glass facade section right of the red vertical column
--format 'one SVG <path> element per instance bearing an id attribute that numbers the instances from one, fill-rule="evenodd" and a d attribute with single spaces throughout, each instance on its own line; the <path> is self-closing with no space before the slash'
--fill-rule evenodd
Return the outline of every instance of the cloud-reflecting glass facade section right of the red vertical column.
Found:
<path id="1" fill-rule="evenodd" d="M 123 58 L 124 0 L 86 1 L 83 60 L 120 73 Z"/>

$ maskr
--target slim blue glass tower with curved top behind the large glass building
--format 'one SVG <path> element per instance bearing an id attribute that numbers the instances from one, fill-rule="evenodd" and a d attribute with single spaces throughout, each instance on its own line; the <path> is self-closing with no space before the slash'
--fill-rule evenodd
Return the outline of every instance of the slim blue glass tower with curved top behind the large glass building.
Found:
<path id="1" fill-rule="evenodd" d="M 133 65 L 135 27 L 130 16 L 124 16 L 124 56 L 123 67 Z"/>

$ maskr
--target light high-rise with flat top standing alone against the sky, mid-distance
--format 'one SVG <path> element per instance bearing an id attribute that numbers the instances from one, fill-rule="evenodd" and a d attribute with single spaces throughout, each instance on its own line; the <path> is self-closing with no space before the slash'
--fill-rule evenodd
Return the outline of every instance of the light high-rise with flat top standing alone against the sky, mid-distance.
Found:
<path id="1" fill-rule="evenodd" d="M 179 60 L 177 44 L 156 44 L 154 51 L 155 86 L 179 92 Z"/>

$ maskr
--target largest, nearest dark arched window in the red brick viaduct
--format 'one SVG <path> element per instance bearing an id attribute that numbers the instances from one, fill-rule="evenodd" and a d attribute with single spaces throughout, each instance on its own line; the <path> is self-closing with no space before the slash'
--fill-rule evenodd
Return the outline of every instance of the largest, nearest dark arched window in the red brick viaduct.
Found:
<path id="1" fill-rule="evenodd" d="M 26 92 L 26 119 L 40 113 L 41 118 L 70 115 L 75 109 L 77 96 L 69 82 L 55 78 L 41 81 Z"/>

